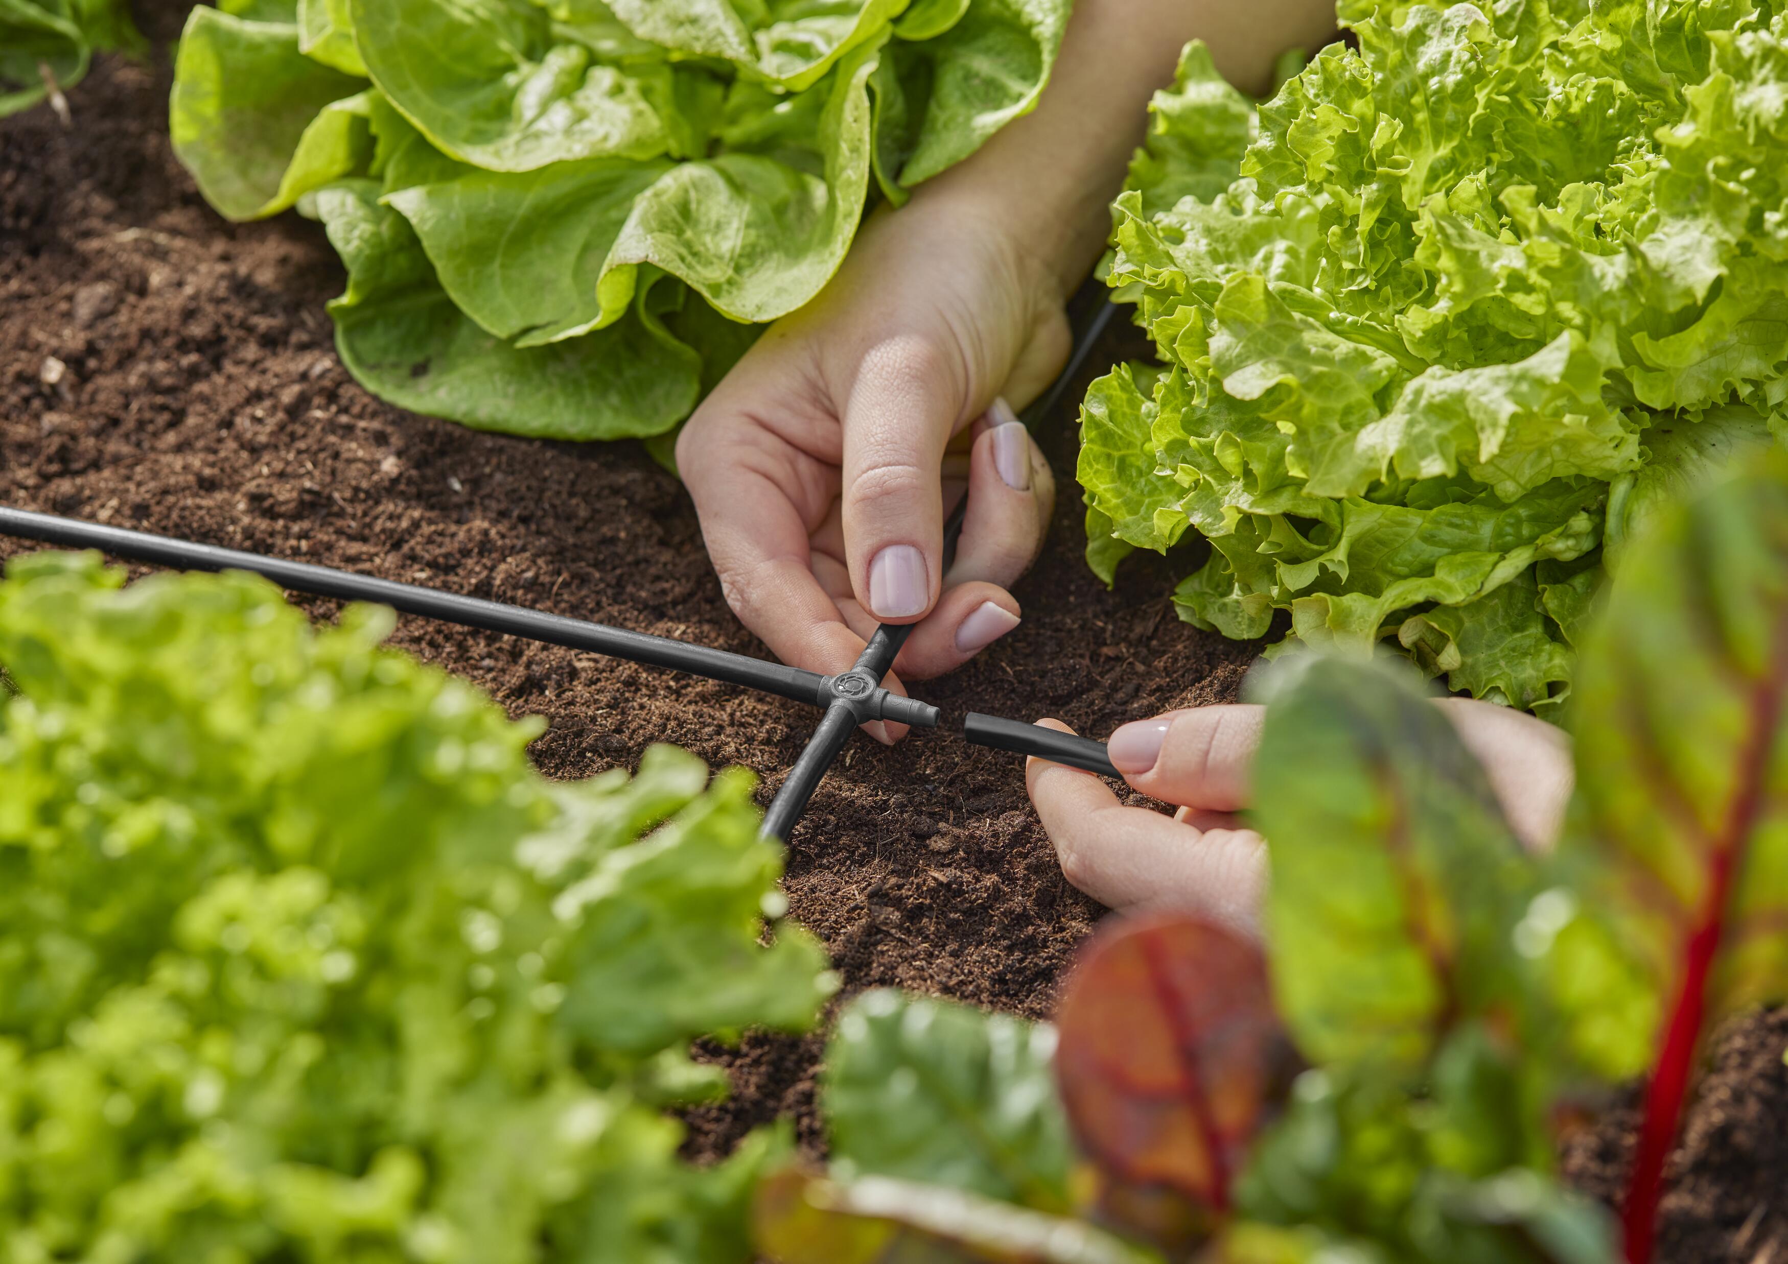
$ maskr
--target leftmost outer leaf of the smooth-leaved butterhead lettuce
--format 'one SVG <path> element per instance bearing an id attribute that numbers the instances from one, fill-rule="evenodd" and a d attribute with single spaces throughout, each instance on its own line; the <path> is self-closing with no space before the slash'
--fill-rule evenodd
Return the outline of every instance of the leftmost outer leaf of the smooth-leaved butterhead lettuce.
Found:
<path id="1" fill-rule="evenodd" d="M 200 5 L 173 68 L 173 152 L 229 218 L 274 215 L 372 159 L 361 88 L 299 52 L 299 27 Z"/>

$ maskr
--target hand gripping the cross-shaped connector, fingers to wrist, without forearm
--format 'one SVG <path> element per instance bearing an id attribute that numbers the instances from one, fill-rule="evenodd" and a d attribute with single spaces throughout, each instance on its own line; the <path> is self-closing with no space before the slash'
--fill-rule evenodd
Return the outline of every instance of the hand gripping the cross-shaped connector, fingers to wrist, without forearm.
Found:
<path id="1" fill-rule="evenodd" d="M 865 225 L 831 284 L 763 334 L 678 440 L 728 604 L 819 672 L 846 670 L 878 622 L 917 624 L 896 660 L 917 678 L 1012 631 L 1007 586 L 1055 504 L 1012 406 L 1067 356 L 1062 279 L 999 207 L 960 186 L 928 193 Z M 944 506 L 964 481 L 946 574 Z"/>

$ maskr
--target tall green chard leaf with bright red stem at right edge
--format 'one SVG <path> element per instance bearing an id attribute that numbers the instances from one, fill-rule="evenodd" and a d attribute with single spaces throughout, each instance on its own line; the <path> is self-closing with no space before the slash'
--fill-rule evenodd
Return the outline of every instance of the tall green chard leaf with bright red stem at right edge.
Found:
<path id="1" fill-rule="evenodd" d="M 1625 1198 L 1650 1257 L 1709 1024 L 1788 999 L 1788 456 L 1654 511 L 1584 644 L 1579 828 L 1534 951 L 1579 1058 L 1650 1066 Z"/>

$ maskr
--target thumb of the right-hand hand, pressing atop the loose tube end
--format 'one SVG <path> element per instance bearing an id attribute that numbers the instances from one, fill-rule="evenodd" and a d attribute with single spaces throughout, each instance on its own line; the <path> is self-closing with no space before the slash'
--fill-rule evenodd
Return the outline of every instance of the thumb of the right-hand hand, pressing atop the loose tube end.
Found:
<path id="1" fill-rule="evenodd" d="M 1112 767 L 1151 799 L 1239 812 L 1252 794 L 1262 706 L 1198 706 L 1134 720 L 1112 733 Z"/>

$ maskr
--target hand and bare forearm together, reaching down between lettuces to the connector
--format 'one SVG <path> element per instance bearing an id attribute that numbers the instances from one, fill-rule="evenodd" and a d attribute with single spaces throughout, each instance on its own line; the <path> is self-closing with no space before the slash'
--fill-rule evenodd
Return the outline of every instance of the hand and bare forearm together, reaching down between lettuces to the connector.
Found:
<path id="1" fill-rule="evenodd" d="M 1037 109 L 876 215 L 733 368 L 678 468 L 728 603 L 776 654 L 837 672 L 876 622 L 917 624 L 896 669 L 935 676 L 1017 626 L 1007 588 L 1055 485 L 1012 408 L 1067 356 L 1062 299 L 1105 245 L 1150 95 L 1194 36 L 1261 91 L 1287 46 L 1332 29 L 1328 0 L 1076 0 Z M 969 511 L 942 574 L 953 481 Z"/>

